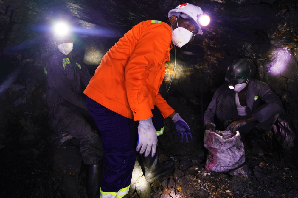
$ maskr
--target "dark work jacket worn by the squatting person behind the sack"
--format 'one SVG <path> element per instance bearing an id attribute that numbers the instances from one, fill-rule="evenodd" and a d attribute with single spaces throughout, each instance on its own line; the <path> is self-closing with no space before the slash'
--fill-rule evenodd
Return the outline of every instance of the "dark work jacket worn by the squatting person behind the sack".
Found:
<path id="1" fill-rule="evenodd" d="M 229 93 L 233 95 L 233 110 L 235 112 L 235 120 L 238 120 L 237 106 L 235 102 L 235 91 L 229 89 L 228 84 L 219 87 L 212 98 L 207 110 L 204 114 L 204 125 L 214 122 L 216 115 L 217 98 L 222 93 Z M 266 104 L 261 105 L 261 100 Z M 268 118 L 280 114 L 283 111 L 283 105 L 277 95 L 269 88 L 266 83 L 257 81 L 256 79 L 249 79 L 248 89 L 246 95 L 246 114 L 252 115 L 258 122 L 262 123 Z"/>

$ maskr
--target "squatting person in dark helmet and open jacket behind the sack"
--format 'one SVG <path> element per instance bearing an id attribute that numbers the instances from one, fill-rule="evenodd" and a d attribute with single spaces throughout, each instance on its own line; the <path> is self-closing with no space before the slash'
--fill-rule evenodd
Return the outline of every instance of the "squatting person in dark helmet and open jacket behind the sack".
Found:
<path id="1" fill-rule="evenodd" d="M 215 131 L 214 117 L 226 130 L 247 134 L 246 142 L 254 153 L 264 151 L 257 136 L 270 131 L 283 106 L 266 83 L 251 79 L 252 68 L 245 59 L 237 59 L 226 72 L 227 84 L 219 87 L 204 114 L 206 129 Z"/>

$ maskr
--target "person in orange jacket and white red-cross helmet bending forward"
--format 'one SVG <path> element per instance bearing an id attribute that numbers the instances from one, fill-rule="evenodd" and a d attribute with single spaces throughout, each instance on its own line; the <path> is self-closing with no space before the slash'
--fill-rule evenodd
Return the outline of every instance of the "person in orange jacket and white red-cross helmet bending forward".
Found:
<path id="1" fill-rule="evenodd" d="M 152 165 L 158 161 L 154 106 L 164 118 L 172 118 L 179 136 L 192 138 L 186 122 L 158 90 L 165 61 L 170 60 L 171 41 L 181 47 L 193 35 L 202 34 L 198 23 L 202 14 L 200 7 L 185 3 L 170 10 L 172 27 L 157 20 L 137 24 L 105 54 L 91 78 L 84 93 L 88 111 L 101 131 L 104 176 L 100 197 L 127 194 L 136 151 L 145 152 L 145 157 L 150 154 Z"/>

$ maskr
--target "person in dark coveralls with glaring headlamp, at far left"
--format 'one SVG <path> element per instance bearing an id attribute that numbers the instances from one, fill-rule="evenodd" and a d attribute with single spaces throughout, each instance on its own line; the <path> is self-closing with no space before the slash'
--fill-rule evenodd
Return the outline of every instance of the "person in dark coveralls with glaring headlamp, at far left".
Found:
<path id="1" fill-rule="evenodd" d="M 91 76 L 72 54 L 73 43 L 73 37 L 56 41 L 60 52 L 52 55 L 44 67 L 49 123 L 57 133 L 66 131 L 80 141 L 86 164 L 86 190 L 91 198 L 99 194 L 103 175 L 102 145 L 97 131 L 83 117 L 82 111 L 88 112 L 81 88 L 88 85 Z"/>

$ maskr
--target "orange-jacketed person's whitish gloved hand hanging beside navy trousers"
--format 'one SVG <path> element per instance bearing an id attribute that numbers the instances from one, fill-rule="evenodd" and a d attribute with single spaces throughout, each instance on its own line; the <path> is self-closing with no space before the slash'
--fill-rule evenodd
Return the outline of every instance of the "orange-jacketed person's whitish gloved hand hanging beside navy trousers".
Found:
<path id="1" fill-rule="evenodd" d="M 136 151 L 140 151 L 141 154 L 145 152 L 145 157 L 148 157 L 150 152 L 153 157 L 156 152 L 157 135 L 151 118 L 152 117 L 146 120 L 140 120 L 138 126 L 138 143 Z"/>

